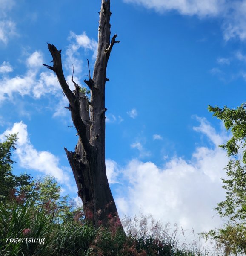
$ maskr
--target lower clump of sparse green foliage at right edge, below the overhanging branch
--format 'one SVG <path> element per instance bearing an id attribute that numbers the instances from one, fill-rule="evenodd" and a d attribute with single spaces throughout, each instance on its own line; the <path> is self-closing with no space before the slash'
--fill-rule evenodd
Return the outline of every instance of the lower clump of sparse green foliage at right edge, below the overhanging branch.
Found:
<path id="1" fill-rule="evenodd" d="M 223 228 L 202 233 L 206 239 L 212 238 L 217 248 L 222 248 L 225 255 L 246 253 L 246 166 L 239 160 L 230 160 L 227 164 L 223 188 L 226 200 L 215 208 L 220 217 L 227 219 Z"/>

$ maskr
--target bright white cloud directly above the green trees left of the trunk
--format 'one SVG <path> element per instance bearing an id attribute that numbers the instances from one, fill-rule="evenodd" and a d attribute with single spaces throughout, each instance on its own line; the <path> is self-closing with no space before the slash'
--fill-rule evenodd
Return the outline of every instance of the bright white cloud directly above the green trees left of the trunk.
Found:
<path id="1" fill-rule="evenodd" d="M 27 125 L 22 121 L 14 123 L 13 127 L 0 134 L 0 140 L 5 140 L 5 135 L 18 133 L 16 151 L 18 164 L 25 169 L 32 169 L 45 175 L 54 176 L 60 183 L 69 185 L 69 175 L 66 168 L 59 167 L 59 159 L 49 151 L 37 151 L 31 144 L 27 132 Z"/>

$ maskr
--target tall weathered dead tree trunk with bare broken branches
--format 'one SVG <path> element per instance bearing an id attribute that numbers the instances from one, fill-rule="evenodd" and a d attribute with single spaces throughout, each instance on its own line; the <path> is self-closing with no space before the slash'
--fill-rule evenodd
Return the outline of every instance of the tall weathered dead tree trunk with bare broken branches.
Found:
<path id="1" fill-rule="evenodd" d="M 61 51 L 48 44 L 53 57 L 53 66 L 45 65 L 56 73 L 63 92 L 69 100 L 72 121 L 79 136 L 75 151 L 65 148 L 78 188 L 78 195 L 83 201 L 86 219 L 95 227 L 112 224 L 122 228 L 105 167 L 105 83 L 106 68 L 117 35 L 110 41 L 110 0 L 102 0 L 98 29 L 98 52 L 94 72 L 89 80 L 84 80 L 91 90 L 90 102 L 80 92 L 74 82 L 72 92 L 62 70 Z"/>

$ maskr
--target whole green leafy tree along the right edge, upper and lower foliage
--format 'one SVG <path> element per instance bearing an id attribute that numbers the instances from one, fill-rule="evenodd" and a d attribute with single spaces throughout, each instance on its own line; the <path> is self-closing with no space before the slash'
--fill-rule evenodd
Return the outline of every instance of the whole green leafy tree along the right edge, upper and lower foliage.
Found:
<path id="1" fill-rule="evenodd" d="M 227 151 L 229 157 L 242 154 L 242 161 L 229 160 L 224 168 L 227 179 L 223 180 L 226 199 L 215 207 L 221 218 L 225 219 L 222 228 L 201 233 L 203 237 L 215 241 L 217 248 L 223 249 L 226 256 L 246 254 L 246 103 L 237 109 L 226 106 L 209 106 L 213 116 L 224 122 L 232 137 L 221 148 Z"/>

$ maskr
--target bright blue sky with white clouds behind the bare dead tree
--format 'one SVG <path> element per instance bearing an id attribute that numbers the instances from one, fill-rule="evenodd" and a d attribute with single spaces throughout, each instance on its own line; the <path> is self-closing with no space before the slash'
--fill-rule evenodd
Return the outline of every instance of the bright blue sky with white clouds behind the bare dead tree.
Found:
<path id="1" fill-rule="evenodd" d="M 245 101 L 245 0 L 112 1 L 106 166 L 120 215 L 152 213 L 195 232 L 221 225 L 228 138 L 208 105 Z M 15 173 L 51 174 L 76 197 L 65 146 L 76 131 L 57 79 L 41 64 L 62 49 L 72 88 L 96 56 L 100 1 L 0 0 L 0 138 L 19 132 Z"/>

